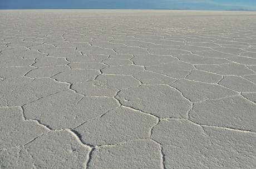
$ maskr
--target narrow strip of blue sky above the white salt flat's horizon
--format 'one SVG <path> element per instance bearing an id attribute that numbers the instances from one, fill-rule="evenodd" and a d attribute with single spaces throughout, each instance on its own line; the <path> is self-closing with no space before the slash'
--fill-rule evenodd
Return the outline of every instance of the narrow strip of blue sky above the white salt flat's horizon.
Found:
<path id="1" fill-rule="evenodd" d="M 256 10 L 256 0 L 0 0 L 0 9 Z"/>

